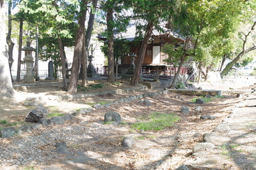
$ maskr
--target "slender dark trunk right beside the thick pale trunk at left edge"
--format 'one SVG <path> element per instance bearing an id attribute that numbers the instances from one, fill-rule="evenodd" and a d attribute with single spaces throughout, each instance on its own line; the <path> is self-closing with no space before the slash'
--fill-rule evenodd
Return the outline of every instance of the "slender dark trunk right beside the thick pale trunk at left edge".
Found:
<path id="1" fill-rule="evenodd" d="M 12 78 L 12 64 L 13 64 L 13 46 L 14 43 L 11 39 L 12 34 L 12 1 L 9 1 L 8 3 L 8 34 L 6 37 L 6 41 L 8 44 L 8 62 L 9 62 L 9 68 L 10 68 L 10 74 Z M 12 78 L 13 82 L 13 78 Z"/>

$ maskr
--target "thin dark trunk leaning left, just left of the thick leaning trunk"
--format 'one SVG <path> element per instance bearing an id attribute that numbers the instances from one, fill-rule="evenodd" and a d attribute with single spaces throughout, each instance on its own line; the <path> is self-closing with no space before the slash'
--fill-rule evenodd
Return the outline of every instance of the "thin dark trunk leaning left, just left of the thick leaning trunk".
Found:
<path id="1" fill-rule="evenodd" d="M 61 58 L 61 66 L 62 66 L 61 73 L 62 73 L 62 80 L 63 80 L 63 89 L 67 91 L 68 83 L 67 83 L 67 76 L 66 76 L 65 57 L 64 57 L 64 52 L 62 48 L 62 40 L 60 38 L 60 34 L 58 34 L 58 43 L 60 48 L 60 58 Z"/>

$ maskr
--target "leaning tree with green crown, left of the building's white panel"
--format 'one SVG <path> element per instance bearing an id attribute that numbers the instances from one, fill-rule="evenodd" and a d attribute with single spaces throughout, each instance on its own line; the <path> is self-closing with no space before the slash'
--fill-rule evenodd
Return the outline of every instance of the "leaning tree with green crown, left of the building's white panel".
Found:
<path id="1" fill-rule="evenodd" d="M 169 0 L 134 0 L 134 19 L 140 20 L 140 22 L 137 23 L 137 34 L 143 37 L 143 41 L 141 42 L 136 67 L 130 83 L 131 85 L 138 84 L 141 66 L 153 29 L 162 31 L 159 25 L 163 24 L 163 22 L 167 22 L 171 18 L 174 13 L 173 6 L 175 6 L 176 3 L 177 1 Z"/>

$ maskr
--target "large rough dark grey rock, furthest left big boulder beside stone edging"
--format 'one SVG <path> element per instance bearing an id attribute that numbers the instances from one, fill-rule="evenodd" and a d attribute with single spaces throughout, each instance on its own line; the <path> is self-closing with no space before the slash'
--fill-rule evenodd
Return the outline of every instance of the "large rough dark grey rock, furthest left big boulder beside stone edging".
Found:
<path id="1" fill-rule="evenodd" d="M 45 118 L 48 114 L 47 108 L 44 106 L 36 106 L 31 110 L 25 118 L 25 122 L 38 122 L 41 118 Z"/>

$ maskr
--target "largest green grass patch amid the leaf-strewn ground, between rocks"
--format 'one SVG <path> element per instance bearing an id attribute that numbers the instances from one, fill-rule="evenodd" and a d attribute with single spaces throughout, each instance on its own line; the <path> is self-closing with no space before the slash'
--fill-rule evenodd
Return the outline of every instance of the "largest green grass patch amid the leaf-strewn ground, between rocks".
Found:
<path id="1" fill-rule="evenodd" d="M 132 124 L 132 128 L 138 129 L 140 131 L 159 131 L 163 130 L 165 127 L 172 126 L 174 122 L 179 120 L 180 118 L 174 114 L 152 113 L 148 122 L 138 122 Z"/>

